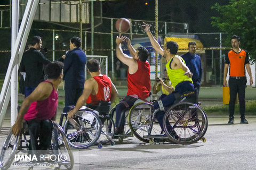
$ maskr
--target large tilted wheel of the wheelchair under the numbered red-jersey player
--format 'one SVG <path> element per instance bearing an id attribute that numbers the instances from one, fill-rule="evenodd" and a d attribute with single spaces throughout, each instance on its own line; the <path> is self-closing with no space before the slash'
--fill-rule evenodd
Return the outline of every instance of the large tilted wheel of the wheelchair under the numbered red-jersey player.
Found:
<path id="1" fill-rule="evenodd" d="M 71 147 L 89 148 L 96 143 L 101 133 L 99 116 L 92 111 L 78 111 L 75 118 L 67 120 L 63 130 Z"/>

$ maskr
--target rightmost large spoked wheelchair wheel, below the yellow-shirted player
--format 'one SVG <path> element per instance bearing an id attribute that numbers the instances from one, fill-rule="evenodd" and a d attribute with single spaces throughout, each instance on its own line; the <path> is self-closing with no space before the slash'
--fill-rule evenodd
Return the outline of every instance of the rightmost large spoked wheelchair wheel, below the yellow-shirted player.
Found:
<path id="1" fill-rule="evenodd" d="M 163 122 L 167 137 L 182 145 L 202 139 L 208 126 L 204 110 L 193 103 L 178 103 L 171 106 L 165 112 Z"/>

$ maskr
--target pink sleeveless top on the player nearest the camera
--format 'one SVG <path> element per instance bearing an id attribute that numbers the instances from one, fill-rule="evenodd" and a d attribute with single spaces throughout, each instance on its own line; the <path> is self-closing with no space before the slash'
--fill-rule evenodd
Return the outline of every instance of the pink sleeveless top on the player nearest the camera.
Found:
<path id="1" fill-rule="evenodd" d="M 49 82 L 49 81 L 44 81 Z M 51 83 L 51 82 L 49 82 Z M 52 84 L 52 83 L 51 83 Z M 28 112 L 24 115 L 26 121 L 36 120 L 50 120 L 55 116 L 58 105 L 58 91 L 55 91 L 52 84 L 51 95 L 42 101 L 34 101 L 30 104 Z"/>

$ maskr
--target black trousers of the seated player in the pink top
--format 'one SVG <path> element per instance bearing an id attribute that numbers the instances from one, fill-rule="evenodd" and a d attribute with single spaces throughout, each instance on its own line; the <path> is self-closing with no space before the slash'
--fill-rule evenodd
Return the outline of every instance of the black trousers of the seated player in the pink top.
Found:
<path id="1" fill-rule="evenodd" d="M 30 135 L 29 149 L 47 150 L 52 139 L 53 124 L 50 120 L 30 120 L 27 121 Z M 39 137 L 39 145 L 38 145 Z"/>

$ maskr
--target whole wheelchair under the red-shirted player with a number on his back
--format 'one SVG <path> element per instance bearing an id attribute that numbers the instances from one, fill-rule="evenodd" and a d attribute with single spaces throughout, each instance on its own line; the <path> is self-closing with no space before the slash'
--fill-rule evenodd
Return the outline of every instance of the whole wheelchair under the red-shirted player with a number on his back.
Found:
<path id="1" fill-rule="evenodd" d="M 61 114 L 61 126 L 67 112 Z M 74 118 L 65 121 L 63 131 L 70 146 L 77 149 L 89 148 L 92 145 L 101 148 L 108 142 L 111 146 L 115 145 L 112 141 L 115 134 L 115 123 L 112 118 L 109 115 L 99 115 L 99 112 L 86 106 L 79 109 Z"/>

